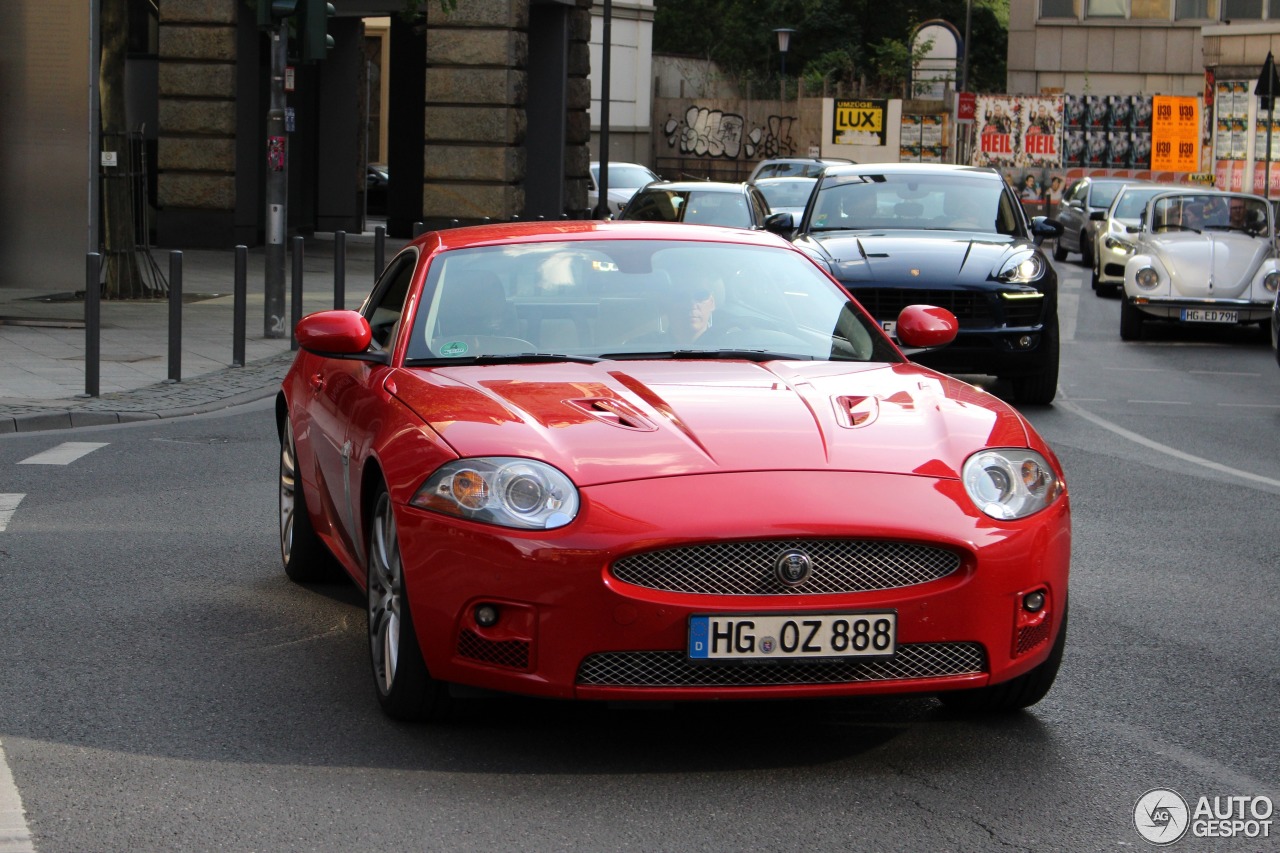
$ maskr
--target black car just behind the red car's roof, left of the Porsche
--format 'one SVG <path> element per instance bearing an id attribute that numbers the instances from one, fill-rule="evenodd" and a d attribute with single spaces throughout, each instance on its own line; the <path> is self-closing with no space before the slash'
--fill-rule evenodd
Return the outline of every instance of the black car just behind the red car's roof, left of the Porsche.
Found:
<path id="1" fill-rule="evenodd" d="M 771 225 L 769 202 L 750 183 L 718 181 L 654 181 L 631 197 L 618 219 L 682 222 L 692 225 L 765 227 L 786 231 L 790 214 L 777 214 Z"/>

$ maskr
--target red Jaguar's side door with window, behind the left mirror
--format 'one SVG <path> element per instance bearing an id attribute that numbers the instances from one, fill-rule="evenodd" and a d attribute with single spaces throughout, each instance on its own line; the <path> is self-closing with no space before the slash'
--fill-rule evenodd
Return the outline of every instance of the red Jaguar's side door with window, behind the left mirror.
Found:
<path id="1" fill-rule="evenodd" d="M 388 361 L 396 346 L 417 257 L 416 248 L 397 255 L 361 309 L 372 330 L 370 350 L 387 353 Z M 372 360 L 321 359 L 308 378 L 314 394 L 310 409 L 320 492 L 332 507 L 332 517 L 340 521 L 334 533 L 360 560 L 364 560 L 364 548 L 356 511 L 360 497 L 357 461 L 364 459 L 370 435 L 380 425 L 380 411 L 387 398 L 383 383 L 389 371 L 389 364 Z"/>

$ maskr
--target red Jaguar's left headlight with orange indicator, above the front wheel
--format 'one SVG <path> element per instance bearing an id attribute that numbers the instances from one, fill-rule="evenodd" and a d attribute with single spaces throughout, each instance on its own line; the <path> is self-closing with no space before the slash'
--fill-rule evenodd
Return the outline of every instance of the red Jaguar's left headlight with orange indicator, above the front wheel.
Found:
<path id="1" fill-rule="evenodd" d="M 493 456 L 442 465 L 410 501 L 421 510 L 504 528 L 548 530 L 577 515 L 577 488 L 547 462 Z"/>

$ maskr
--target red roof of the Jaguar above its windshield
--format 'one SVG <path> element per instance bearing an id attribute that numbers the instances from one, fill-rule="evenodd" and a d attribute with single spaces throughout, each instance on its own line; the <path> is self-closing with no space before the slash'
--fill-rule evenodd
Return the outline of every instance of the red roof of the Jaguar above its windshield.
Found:
<path id="1" fill-rule="evenodd" d="M 618 222 L 570 219 L 557 222 L 511 222 L 430 231 L 413 240 L 426 251 L 500 246 L 513 242 L 559 242 L 593 240 L 671 240 L 704 243 L 740 243 L 800 252 L 788 241 L 767 231 L 728 225 L 698 225 L 667 222 Z M 803 252 L 801 252 L 803 254 Z"/>

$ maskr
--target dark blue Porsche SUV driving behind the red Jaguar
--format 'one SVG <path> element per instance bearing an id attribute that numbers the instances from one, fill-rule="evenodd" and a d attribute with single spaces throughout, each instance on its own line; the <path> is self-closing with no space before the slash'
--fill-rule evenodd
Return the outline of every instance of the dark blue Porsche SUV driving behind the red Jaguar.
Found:
<path id="1" fill-rule="evenodd" d="M 817 259 L 886 330 L 909 305 L 960 320 L 951 346 L 916 359 L 954 374 L 1009 379 L 1024 403 L 1057 393 L 1057 273 L 995 169 L 895 163 L 828 167 L 795 243 Z"/>

